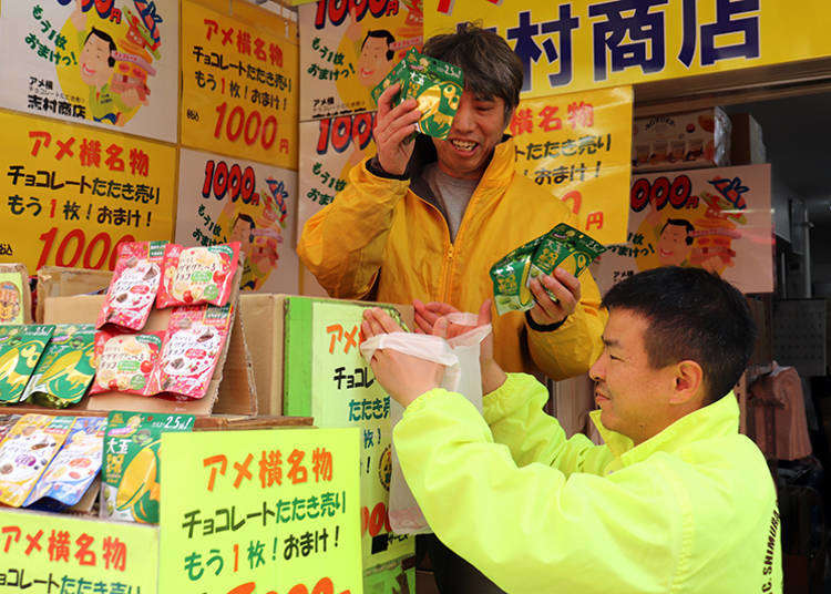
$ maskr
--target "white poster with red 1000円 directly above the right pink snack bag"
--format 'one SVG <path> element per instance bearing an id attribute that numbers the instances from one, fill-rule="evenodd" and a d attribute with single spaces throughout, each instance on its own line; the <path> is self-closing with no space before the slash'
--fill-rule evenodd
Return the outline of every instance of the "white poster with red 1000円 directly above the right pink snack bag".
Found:
<path id="1" fill-rule="evenodd" d="M 242 288 L 297 294 L 297 172 L 212 153 L 179 153 L 176 242 L 239 242 Z"/>

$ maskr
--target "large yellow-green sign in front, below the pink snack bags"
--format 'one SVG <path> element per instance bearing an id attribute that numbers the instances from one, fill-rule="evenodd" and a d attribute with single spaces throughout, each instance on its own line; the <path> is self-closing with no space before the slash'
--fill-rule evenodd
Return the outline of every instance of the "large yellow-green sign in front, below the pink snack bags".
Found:
<path id="1" fill-rule="evenodd" d="M 356 429 L 165 433 L 160 592 L 361 592 Z"/>

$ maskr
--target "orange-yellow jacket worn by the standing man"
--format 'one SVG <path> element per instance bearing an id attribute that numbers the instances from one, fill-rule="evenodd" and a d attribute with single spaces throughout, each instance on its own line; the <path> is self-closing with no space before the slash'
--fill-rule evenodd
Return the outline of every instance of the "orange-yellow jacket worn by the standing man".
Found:
<path id="1" fill-rule="evenodd" d="M 561 201 L 515 172 L 514 162 L 509 139 L 496 146 L 451 243 L 439 208 L 417 196 L 409 181 L 373 175 L 365 161 L 349 172 L 336 199 L 306 223 L 300 259 L 332 297 L 365 297 L 377 281 L 379 301 L 444 301 L 478 311 L 493 296 L 493 263 L 557 223 L 577 226 Z M 603 350 L 606 313 L 588 272 L 581 284 L 581 303 L 553 331 L 527 327 L 522 313 L 496 317 L 493 310 L 495 358 L 505 370 L 533 370 L 529 352 L 553 379 L 588 370 Z"/>

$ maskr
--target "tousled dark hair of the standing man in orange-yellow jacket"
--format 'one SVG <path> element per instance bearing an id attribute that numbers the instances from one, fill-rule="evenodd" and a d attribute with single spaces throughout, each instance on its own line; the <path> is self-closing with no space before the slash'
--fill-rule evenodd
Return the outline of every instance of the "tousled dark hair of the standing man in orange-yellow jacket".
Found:
<path id="1" fill-rule="evenodd" d="M 520 104 L 522 61 L 507 42 L 493 31 L 462 23 L 455 33 L 427 40 L 422 53 L 450 62 L 464 72 L 464 86 L 479 96 L 502 98 L 507 117 Z"/>

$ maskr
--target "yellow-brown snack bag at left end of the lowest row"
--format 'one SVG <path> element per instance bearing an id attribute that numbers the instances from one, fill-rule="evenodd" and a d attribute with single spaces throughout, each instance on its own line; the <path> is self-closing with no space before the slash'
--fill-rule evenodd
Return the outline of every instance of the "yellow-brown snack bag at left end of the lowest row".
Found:
<path id="1" fill-rule="evenodd" d="M 0 444 L 0 503 L 20 508 L 70 432 L 74 417 L 24 414 Z"/>

